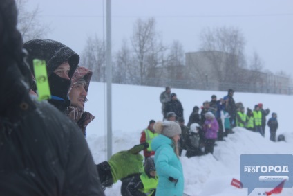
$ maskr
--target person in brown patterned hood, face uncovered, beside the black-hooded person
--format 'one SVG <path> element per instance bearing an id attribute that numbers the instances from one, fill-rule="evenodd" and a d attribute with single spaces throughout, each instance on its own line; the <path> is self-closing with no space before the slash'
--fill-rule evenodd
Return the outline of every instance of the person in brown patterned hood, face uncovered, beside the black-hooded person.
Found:
<path id="1" fill-rule="evenodd" d="M 84 136 L 86 136 L 86 126 L 95 119 L 91 113 L 84 111 L 92 75 L 91 70 L 78 66 L 71 78 L 71 88 L 68 93 L 71 105 L 66 109 L 66 116 L 77 123 Z"/>

